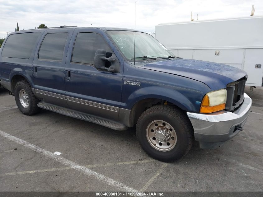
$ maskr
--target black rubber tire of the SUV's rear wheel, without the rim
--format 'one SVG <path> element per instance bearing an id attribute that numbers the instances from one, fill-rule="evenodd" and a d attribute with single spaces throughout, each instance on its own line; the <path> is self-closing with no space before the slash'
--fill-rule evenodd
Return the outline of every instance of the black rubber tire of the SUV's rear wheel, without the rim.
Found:
<path id="1" fill-rule="evenodd" d="M 29 99 L 29 101 L 28 101 L 29 105 L 27 108 L 22 106 L 22 104 L 20 102 L 19 93 L 21 90 L 25 90 L 27 93 L 27 96 Z M 40 111 L 40 108 L 37 106 L 37 104 L 40 100 L 38 100 L 35 97 L 32 89 L 31 89 L 30 84 L 26 80 L 21 80 L 21 81 L 18 81 L 16 83 L 15 100 L 16 100 L 16 105 L 17 105 L 18 109 L 25 115 L 34 115 Z"/>

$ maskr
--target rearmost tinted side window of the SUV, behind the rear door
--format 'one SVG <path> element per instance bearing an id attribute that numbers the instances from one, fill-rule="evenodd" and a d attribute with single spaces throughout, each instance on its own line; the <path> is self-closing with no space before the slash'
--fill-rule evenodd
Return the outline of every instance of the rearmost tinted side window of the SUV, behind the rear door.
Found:
<path id="1" fill-rule="evenodd" d="M 9 35 L 2 50 L 2 57 L 29 59 L 40 32 Z"/>

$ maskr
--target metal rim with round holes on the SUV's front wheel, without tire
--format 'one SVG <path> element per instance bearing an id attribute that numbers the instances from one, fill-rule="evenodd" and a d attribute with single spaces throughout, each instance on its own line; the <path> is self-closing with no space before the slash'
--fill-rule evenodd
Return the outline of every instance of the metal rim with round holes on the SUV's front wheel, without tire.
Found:
<path id="1" fill-rule="evenodd" d="M 177 136 L 174 128 L 163 120 L 154 120 L 146 129 L 147 140 L 159 151 L 169 151 L 176 145 Z"/>

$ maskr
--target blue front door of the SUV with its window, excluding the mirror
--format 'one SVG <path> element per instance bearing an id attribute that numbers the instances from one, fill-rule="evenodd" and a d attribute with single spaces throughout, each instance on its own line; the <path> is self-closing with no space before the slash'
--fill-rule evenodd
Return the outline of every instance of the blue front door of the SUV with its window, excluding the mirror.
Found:
<path id="1" fill-rule="evenodd" d="M 66 100 L 71 109 L 118 120 L 122 69 L 120 73 L 111 73 L 94 67 L 97 49 L 106 50 L 106 56 L 112 54 L 114 64 L 120 67 L 118 58 L 98 31 L 74 31 L 65 66 Z"/>

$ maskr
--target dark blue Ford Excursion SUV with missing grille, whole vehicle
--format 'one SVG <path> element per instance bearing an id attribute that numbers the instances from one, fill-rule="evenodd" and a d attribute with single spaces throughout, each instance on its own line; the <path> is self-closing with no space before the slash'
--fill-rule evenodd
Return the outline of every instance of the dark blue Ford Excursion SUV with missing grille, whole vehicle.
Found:
<path id="1" fill-rule="evenodd" d="M 0 80 L 25 115 L 44 108 L 116 130 L 136 125 L 143 150 L 162 161 L 185 156 L 193 139 L 218 147 L 251 109 L 244 71 L 176 58 L 151 35 L 121 28 L 10 33 Z"/>

